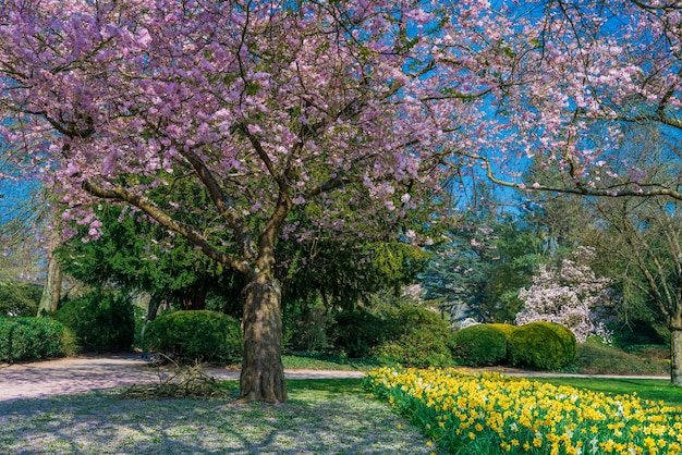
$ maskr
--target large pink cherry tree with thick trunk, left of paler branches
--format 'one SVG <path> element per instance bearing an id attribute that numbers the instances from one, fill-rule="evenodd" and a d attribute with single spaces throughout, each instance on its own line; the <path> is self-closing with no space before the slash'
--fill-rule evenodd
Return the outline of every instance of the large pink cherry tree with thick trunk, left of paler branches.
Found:
<path id="1" fill-rule="evenodd" d="M 92 237 L 93 204 L 118 201 L 246 278 L 244 399 L 287 399 L 278 235 L 395 225 L 440 190 L 447 144 L 476 113 L 425 101 L 438 24 L 412 2 L 2 7 L 0 106 L 22 126 L 8 153 L 29 157 Z M 184 180 L 210 199 L 198 225 Z M 300 229 L 288 217 L 309 201 L 324 211 Z"/>

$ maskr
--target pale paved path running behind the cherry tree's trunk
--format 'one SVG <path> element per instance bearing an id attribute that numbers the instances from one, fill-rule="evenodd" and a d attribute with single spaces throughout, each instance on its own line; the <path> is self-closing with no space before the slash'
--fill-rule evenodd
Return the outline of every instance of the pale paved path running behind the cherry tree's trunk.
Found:
<path id="1" fill-rule="evenodd" d="M 205 368 L 220 380 L 236 380 L 239 371 Z M 291 379 L 362 378 L 362 371 L 288 370 Z M 113 355 L 0 366 L 0 402 L 83 393 L 98 389 L 159 382 L 158 369 L 138 355 Z"/>

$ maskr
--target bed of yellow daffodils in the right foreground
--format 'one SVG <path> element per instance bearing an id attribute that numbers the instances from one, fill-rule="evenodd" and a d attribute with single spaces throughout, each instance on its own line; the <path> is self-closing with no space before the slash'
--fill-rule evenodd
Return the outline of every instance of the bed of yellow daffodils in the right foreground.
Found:
<path id="1" fill-rule="evenodd" d="M 365 386 L 461 454 L 681 454 L 682 408 L 497 373 L 370 371 Z"/>

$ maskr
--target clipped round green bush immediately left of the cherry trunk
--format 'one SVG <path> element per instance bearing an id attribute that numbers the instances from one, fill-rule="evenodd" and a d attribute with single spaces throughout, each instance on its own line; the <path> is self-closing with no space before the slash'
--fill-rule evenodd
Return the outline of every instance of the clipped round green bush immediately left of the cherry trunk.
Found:
<path id="1" fill-rule="evenodd" d="M 180 362 L 232 364 L 243 345 L 239 321 L 211 310 L 163 315 L 147 325 L 143 340 L 146 352 L 171 354 Z"/>

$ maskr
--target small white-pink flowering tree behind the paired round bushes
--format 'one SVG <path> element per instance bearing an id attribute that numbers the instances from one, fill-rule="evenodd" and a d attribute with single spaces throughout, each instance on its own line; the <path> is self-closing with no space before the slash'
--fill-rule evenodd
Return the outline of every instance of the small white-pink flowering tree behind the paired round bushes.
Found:
<path id="1" fill-rule="evenodd" d="M 595 321 L 593 309 L 607 303 L 610 280 L 595 275 L 589 267 L 594 255 L 594 248 L 581 246 L 557 269 L 540 266 L 533 285 L 519 292 L 525 306 L 516 324 L 556 322 L 569 328 L 579 343 L 593 334 L 608 341 L 610 333 Z"/>

